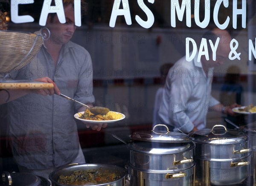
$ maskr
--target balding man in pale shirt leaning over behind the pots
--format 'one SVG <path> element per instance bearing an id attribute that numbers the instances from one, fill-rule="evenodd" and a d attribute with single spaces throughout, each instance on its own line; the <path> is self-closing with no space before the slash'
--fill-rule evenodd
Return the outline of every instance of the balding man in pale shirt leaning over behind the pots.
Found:
<path id="1" fill-rule="evenodd" d="M 220 40 L 214 61 L 209 39 L 215 44 L 218 37 Z M 207 39 L 209 60 L 203 55 L 200 62 L 197 62 L 198 56 L 188 62 L 184 56 L 169 70 L 166 78 L 159 116 L 164 124 L 171 125 L 175 131 L 178 128 L 188 133 L 205 128 L 208 110 L 235 114 L 232 108 L 237 104 L 224 107 L 211 96 L 213 68 L 222 65 L 228 57 L 230 34 L 214 28 L 207 31 L 203 38 Z"/>

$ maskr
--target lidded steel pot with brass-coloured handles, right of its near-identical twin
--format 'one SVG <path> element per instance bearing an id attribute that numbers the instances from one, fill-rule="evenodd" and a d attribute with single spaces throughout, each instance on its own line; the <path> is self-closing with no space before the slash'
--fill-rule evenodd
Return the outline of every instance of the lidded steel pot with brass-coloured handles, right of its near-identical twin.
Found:
<path id="1" fill-rule="evenodd" d="M 227 130 L 223 125 L 189 134 L 196 147 L 195 176 L 203 185 L 238 184 L 248 178 L 251 149 L 248 136 L 238 130 Z M 218 176 L 220 172 L 229 177 Z M 227 176 L 226 175 L 226 176 Z"/>

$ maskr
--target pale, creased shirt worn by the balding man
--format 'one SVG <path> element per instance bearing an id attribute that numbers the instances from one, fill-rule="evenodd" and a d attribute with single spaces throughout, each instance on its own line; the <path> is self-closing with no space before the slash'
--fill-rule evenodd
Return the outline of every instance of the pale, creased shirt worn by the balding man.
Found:
<path id="1" fill-rule="evenodd" d="M 208 110 L 219 101 L 211 96 L 213 69 L 206 76 L 201 62 L 181 58 L 169 70 L 158 112 L 165 124 L 190 132 L 193 127 L 205 128 Z"/>

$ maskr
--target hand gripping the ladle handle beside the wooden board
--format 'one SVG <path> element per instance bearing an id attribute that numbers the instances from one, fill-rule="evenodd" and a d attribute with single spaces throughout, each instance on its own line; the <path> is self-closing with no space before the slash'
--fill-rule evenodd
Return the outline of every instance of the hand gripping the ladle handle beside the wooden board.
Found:
<path id="1" fill-rule="evenodd" d="M 31 93 L 41 94 L 43 96 L 47 96 L 47 95 L 51 96 L 54 93 L 57 93 L 58 95 L 61 94 L 61 91 L 59 90 L 59 88 L 57 87 L 55 82 L 53 82 L 52 79 L 50 79 L 49 77 L 42 77 L 42 78 L 39 78 L 39 79 L 35 79 L 35 81 L 52 83 L 53 88 L 51 88 L 51 89 L 32 89 Z"/>

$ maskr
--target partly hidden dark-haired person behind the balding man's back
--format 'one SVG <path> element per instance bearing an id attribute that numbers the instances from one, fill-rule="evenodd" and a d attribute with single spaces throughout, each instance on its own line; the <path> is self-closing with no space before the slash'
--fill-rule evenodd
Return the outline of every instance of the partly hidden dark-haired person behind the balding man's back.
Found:
<path id="1" fill-rule="evenodd" d="M 161 83 L 164 85 L 166 81 L 166 76 L 169 72 L 169 69 L 172 67 L 172 63 L 165 63 L 160 66 L 160 75 L 161 75 Z M 155 96 L 155 102 L 154 102 L 154 110 L 153 110 L 153 126 L 156 124 L 161 124 L 161 120 L 158 116 L 158 111 L 160 107 L 160 103 L 163 97 L 163 87 L 160 87 L 157 89 L 157 93 Z"/>

